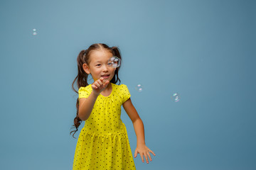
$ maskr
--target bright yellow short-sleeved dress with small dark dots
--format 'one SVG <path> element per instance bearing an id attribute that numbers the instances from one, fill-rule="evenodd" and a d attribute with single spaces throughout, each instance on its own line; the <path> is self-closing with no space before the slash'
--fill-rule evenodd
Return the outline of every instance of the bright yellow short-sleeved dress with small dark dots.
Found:
<path id="1" fill-rule="evenodd" d="M 92 84 L 80 87 L 78 98 L 87 98 Z M 75 148 L 73 170 L 136 169 L 121 106 L 131 96 L 126 85 L 112 84 L 110 96 L 97 96 L 90 117 L 85 120 Z"/>

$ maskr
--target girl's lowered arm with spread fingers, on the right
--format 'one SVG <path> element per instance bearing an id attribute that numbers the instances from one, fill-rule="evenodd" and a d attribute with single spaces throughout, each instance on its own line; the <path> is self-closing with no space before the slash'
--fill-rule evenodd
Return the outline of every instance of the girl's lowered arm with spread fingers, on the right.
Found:
<path id="1" fill-rule="evenodd" d="M 142 162 L 144 162 L 144 157 L 146 158 L 146 163 L 149 164 L 149 159 L 152 161 L 149 152 L 154 154 L 148 147 L 146 147 L 145 136 L 144 136 L 144 125 L 142 119 L 139 118 L 139 114 L 132 105 L 132 100 L 129 98 L 123 103 L 124 110 L 126 111 L 129 118 L 132 120 L 134 125 L 134 130 L 137 136 L 137 148 L 135 149 L 134 157 L 137 157 L 137 153 L 142 157 Z M 144 157 L 143 157 L 144 156 Z M 148 157 L 149 156 L 149 159 Z M 156 156 L 156 154 L 154 154 Z"/>

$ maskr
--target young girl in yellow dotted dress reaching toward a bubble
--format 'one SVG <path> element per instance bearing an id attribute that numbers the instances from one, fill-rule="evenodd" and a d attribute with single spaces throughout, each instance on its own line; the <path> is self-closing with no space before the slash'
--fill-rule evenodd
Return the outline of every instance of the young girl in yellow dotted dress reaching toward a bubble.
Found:
<path id="1" fill-rule="evenodd" d="M 120 118 L 121 106 L 131 118 L 137 135 L 134 157 L 139 153 L 142 162 L 144 157 L 147 164 L 149 159 L 152 161 L 149 152 L 154 152 L 145 145 L 144 125 L 132 105 L 129 90 L 124 84 L 116 84 L 121 82 L 119 67 L 110 67 L 108 62 L 113 56 L 121 60 L 119 49 L 105 44 L 91 45 L 78 55 L 78 76 L 75 77 L 75 80 L 78 79 L 78 91 L 73 86 L 75 80 L 72 84 L 73 90 L 78 93 L 73 137 L 82 120 L 85 120 L 85 126 L 78 137 L 73 170 L 136 169 L 127 129 Z M 89 74 L 94 80 L 92 84 L 87 84 Z"/>

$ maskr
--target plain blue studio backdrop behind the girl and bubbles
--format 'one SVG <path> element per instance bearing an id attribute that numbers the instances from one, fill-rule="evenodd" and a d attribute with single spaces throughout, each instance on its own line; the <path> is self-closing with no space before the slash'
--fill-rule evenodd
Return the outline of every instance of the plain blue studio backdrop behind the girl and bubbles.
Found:
<path id="1" fill-rule="evenodd" d="M 137 169 L 256 169 L 255 9 L 249 0 L 1 0 L 0 169 L 72 169 L 71 84 L 78 53 L 96 42 L 121 50 L 121 83 L 156 154 L 149 164 L 138 154 Z M 123 108 L 122 120 L 134 154 Z"/>

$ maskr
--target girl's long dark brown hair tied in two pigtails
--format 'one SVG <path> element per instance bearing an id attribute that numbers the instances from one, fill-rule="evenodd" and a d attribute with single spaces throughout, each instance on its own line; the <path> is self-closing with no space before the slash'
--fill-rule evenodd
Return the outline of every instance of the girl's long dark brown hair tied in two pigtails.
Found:
<path id="1" fill-rule="evenodd" d="M 75 84 L 75 80 L 76 79 L 78 79 L 78 81 L 77 81 L 78 89 L 80 89 L 81 86 L 88 86 L 89 85 L 87 83 L 87 78 L 88 78 L 89 74 L 87 74 L 84 71 L 84 69 L 82 69 L 82 64 L 87 64 L 87 65 L 90 64 L 90 52 L 92 50 L 107 50 L 107 51 L 111 52 L 112 55 L 119 57 L 119 59 L 121 59 L 121 61 L 122 61 L 121 54 L 119 52 L 119 48 L 118 47 L 109 47 L 109 46 L 107 46 L 105 44 L 97 43 L 97 44 L 90 45 L 90 47 L 87 50 L 82 50 L 79 53 L 78 59 L 77 59 L 77 61 L 78 61 L 78 76 L 75 77 L 75 79 L 74 79 L 74 81 L 72 83 L 72 89 L 77 94 L 78 94 L 78 91 L 76 91 L 74 89 L 74 84 Z M 121 80 L 118 77 L 118 71 L 119 71 L 120 67 L 121 67 L 121 64 L 114 71 L 114 77 L 110 81 L 113 84 L 116 84 L 117 81 L 119 81 L 119 84 L 121 82 Z M 77 99 L 76 108 L 77 108 L 77 113 L 76 113 L 76 117 L 74 119 L 74 125 L 73 125 L 73 128 L 76 128 L 76 130 L 73 130 L 73 131 L 70 132 L 70 135 L 71 135 L 72 132 L 74 132 L 73 133 L 73 137 L 75 135 L 75 132 L 78 131 L 79 125 L 82 123 L 82 120 L 78 117 L 79 99 Z"/>

